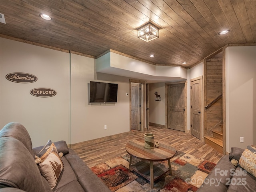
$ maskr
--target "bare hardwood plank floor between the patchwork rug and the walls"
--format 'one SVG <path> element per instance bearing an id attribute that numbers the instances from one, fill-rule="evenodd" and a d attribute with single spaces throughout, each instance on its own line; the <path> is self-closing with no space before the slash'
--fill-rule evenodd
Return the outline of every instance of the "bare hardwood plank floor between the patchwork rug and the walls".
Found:
<path id="1" fill-rule="evenodd" d="M 198 138 L 182 131 L 150 126 L 146 132 L 154 133 L 155 140 L 159 140 L 160 144 L 161 141 L 166 142 L 171 144 L 176 150 L 214 163 L 217 163 L 223 156 Z M 144 132 L 132 130 L 126 136 L 102 142 L 82 142 L 72 145 L 72 149 L 89 167 L 92 167 L 112 158 L 127 154 L 125 150 L 126 143 L 130 140 L 143 138 L 143 134 Z"/>

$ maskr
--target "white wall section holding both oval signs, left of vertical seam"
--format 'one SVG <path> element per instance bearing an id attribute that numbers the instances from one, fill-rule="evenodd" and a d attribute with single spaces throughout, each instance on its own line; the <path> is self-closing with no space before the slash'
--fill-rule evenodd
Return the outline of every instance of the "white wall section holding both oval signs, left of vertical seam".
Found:
<path id="1" fill-rule="evenodd" d="M 51 139 L 69 138 L 69 54 L 1 38 L 1 128 L 20 122 L 28 130 L 33 146 Z M 34 83 L 15 83 L 6 79 L 13 72 L 33 74 Z M 56 96 L 35 97 L 33 88 L 54 89 Z"/>

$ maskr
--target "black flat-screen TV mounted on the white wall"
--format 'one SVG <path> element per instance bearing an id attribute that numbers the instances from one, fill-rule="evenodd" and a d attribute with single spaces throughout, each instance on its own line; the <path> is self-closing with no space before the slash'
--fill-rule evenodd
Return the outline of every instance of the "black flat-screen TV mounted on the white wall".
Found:
<path id="1" fill-rule="evenodd" d="M 90 103 L 117 102 L 118 84 L 90 82 Z"/>

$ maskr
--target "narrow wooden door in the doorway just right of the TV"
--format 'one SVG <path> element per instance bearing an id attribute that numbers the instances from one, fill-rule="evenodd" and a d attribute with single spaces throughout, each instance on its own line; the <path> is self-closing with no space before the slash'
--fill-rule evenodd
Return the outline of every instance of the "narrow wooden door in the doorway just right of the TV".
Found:
<path id="1" fill-rule="evenodd" d="M 140 84 L 131 85 L 131 126 L 132 129 L 140 130 Z"/>

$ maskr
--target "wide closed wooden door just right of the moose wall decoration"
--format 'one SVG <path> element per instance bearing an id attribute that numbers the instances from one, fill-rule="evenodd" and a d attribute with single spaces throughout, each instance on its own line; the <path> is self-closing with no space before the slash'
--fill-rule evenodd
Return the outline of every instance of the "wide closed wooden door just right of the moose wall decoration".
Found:
<path id="1" fill-rule="evenodd" d="M 167 127 L 185 131 L 185 84 L 167 85 Z"/>

